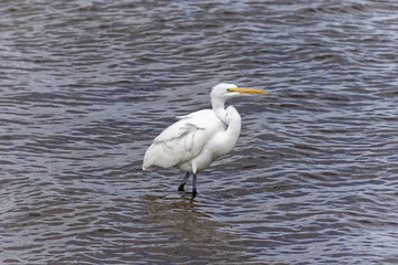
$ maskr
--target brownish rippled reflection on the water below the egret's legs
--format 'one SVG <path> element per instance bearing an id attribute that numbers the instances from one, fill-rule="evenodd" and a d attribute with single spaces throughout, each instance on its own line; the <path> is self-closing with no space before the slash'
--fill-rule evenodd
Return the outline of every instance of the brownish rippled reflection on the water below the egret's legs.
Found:
<path id="1" fill-rule="evenodd" d="M 233 245 L 237 236 L 220 231 L 224 225 L 211 221 L 189 195 L 144 195 L 142 200 L 147 209 L 142 222 L 150 227 L 153 236 L 165 241 L 161 250 L 159 243 L 147 248 L 154 262 L 233 262 L 244 257 L 242 250 Z"/>

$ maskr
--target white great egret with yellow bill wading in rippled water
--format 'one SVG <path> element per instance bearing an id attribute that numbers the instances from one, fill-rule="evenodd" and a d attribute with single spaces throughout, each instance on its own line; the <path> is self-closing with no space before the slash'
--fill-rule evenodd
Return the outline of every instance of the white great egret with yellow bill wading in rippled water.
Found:
<path id="1" fill-rule="evenodd" d="M 241 130 L 241 117 L 233 106 L 224 108 L 229 98 L 243 94 L 266 92 L 239 88 L 233 84 L 219 84 L 211 89 L 212 109 L 202 109 L 167 127 L 146 150 L 143 170 L 154 167 L 176 167 L 187 172 L 178 190 L 184 191 L 189 176 L 193 174 L 192 197 L 197 195 L 197 173 L 222 155 L 232 150 Z"/>

